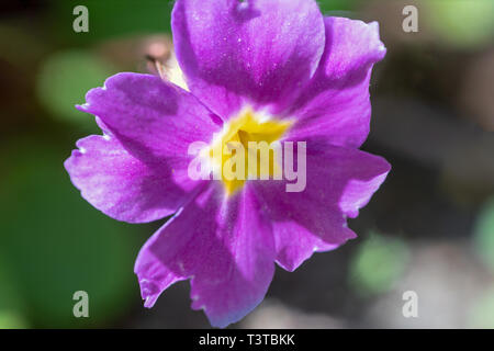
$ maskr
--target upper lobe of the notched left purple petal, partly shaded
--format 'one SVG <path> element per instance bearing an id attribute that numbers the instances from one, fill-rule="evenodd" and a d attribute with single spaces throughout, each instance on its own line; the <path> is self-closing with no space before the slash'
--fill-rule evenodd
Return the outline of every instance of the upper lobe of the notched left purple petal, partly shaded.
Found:
<path id="1" fill-rule="evenodd" d="M 155 76 L 117 73 L 91 89 L 86 101 L 78 107 L 98 116 L 100 126 L 149 165 L 188 163 L 189 145 L 210 143 L 221 131 L 221 120 L 192 94 Z"/>

